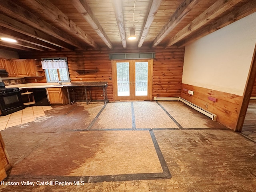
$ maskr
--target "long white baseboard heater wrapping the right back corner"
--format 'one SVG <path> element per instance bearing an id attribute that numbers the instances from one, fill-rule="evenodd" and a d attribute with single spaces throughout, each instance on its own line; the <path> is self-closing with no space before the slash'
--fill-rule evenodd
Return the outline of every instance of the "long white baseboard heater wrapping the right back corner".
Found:
<path id="1" fill-rule="evenodd" d="M 193 109 L 197 110 L 198 112 L 212 118 L 212 120 L 216 121 L 217 120 L 217 115 L 213 114 L 207 110 L 204 110 L 203 108 L 189 102 L 188 100 L 181 98 L 181 97 L 154 97 L 154 101 L 164 101 L 164 100 L 168 100 L 168 101 L 181 101 L 184 104 L 192 107 Z"/>

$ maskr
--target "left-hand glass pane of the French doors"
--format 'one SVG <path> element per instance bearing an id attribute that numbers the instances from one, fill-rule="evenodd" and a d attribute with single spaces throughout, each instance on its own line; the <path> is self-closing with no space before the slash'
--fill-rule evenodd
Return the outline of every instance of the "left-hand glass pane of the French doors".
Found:
<path id="1" fill-rule="evenodd" d="M 129 63 L 116 62 L 117 95 L 130 96 Z"/>

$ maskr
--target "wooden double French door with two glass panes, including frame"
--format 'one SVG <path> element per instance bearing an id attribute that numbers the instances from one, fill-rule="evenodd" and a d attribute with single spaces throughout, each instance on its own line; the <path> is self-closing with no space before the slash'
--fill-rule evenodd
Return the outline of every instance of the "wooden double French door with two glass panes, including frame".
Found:
<path id="1" fill-rule="evenodd" d="M 152 100 L 153 59 L 112 60 L 114 101 Z"/>

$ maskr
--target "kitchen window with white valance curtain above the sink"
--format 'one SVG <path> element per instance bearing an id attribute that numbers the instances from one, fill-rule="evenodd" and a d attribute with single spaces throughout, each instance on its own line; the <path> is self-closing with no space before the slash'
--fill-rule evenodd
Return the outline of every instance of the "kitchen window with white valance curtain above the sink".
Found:
<path id="1" fill-rule="evenodd" d="M 47 82 L 70 82 L 68 64 L 65 59 L 47 59 L 42 60 L 41 63 Z"/>

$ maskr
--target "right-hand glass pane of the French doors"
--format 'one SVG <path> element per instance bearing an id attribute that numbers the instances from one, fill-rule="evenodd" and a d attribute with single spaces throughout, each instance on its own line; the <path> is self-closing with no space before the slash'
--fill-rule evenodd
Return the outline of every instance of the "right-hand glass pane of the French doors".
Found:
<path id="1" fill-rule="evenodd" d="M 135 62 L 135 96 L 148 95 L 148 62 Z"/>

